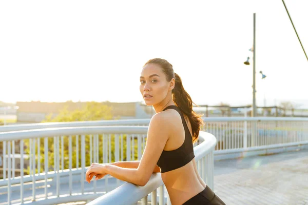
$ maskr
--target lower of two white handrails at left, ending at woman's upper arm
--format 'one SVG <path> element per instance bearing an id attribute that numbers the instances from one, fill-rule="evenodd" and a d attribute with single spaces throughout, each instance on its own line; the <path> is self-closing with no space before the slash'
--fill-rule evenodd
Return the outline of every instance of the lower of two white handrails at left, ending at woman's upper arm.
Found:
<path id="1" fill-rule="evenodd" d="M 92 126 L 0 132 L 0 141 L 89 134 L 147 134 L 148 126 Z"/>

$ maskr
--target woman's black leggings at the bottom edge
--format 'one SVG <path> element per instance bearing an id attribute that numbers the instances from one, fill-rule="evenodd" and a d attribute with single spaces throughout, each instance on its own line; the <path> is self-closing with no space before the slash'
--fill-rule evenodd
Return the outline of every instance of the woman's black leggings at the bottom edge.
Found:
<path id="1" fill-rule="evenodd" d="M 226 205 L 208 186 L 183 205 Z"/>

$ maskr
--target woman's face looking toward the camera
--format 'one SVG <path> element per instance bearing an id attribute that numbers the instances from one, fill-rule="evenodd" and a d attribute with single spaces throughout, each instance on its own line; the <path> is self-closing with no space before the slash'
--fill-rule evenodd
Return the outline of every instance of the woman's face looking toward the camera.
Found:
<path id="1" fill-rule="evenodd" d="M 170 90 L 169 85 L 170 83 L 159 65 L 147 64 L 143 67 L 140 76 L 140 93 L 147 106 L 161 103 Z"/>

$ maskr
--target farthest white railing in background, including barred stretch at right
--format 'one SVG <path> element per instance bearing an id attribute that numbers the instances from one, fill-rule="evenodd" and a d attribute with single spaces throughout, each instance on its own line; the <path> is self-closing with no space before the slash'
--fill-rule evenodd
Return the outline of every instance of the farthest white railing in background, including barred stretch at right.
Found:
<path id="1" fill-rule="evenodd" d="M 216 150 L 288 144 L 308 140 L 308 118 L 300 117 L 207 117 L 207 131 L 217 137 Z M 47 122 L 1 126 L 1 132 L 88 126 L 148 126 L 150 119 Z"/>

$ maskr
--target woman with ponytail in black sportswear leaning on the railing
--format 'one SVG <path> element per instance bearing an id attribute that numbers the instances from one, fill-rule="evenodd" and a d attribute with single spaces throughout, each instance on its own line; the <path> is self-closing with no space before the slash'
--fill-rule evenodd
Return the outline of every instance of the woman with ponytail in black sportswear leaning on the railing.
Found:
<path id="1" fill-rule="evenodd" d="M 107 174 L 145 186 L 152 173 L 161 172 L 172 205 L 224 204 L 199 176 L 192 143 L 197 141 L 202 119 L 192 111 L 192 100 L 181 78 L 167 60 L 154 58 L 143 66 L 140 92 L 156 114 L 151 118 L 140 161 L 92 163 L 86 172 L 90 183 Z"/>

